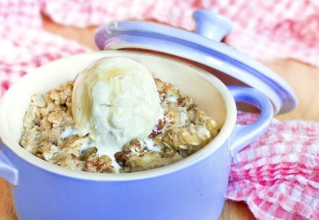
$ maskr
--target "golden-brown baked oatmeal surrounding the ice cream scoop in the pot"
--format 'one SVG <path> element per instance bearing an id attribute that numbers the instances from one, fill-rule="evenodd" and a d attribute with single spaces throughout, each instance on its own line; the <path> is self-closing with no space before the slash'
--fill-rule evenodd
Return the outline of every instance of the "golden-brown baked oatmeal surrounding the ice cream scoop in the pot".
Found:
<path id="1" fill-rule="evenodd" d="M 109 156 L 97 153 L 88 135 L 76 134 L 71 105 L 74 82 L 32 96 L 20 145 L 50 163 L 94 173 L 146 171 L 182 160 L 207 145 L 219 128 L 213 118 L 198 110 L 191 97 L 169 83 L 154 80 L 164 118 L 148 138 L 132 139 L 115 153 L 119 171 Z"/>

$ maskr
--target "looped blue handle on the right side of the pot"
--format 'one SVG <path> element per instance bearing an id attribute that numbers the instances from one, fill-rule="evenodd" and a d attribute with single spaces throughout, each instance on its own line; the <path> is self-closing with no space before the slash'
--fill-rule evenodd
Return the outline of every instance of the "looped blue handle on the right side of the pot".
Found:
<path id="1" fill-rule="evenodd" d="M 233 157 L 267 131 L 273 117 L 273 107 L 269 98 L 256 88 L 241 86 L 228 86 L 227 88 L 235 101 L 247 102 L 260 109 L 260 116 L 253 124 L 235 125 L 231 134 L 232 143 L 229 147 L 230 155 Z"/>

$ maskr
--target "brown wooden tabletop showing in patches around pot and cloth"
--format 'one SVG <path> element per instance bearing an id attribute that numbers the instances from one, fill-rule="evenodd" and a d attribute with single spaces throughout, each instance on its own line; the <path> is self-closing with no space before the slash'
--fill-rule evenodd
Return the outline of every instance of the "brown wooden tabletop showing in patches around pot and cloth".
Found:
<path id="1" fill-rule="evenodd" d="M 74 28 L 53 23 L 44 17 L 44 29 L 56 35 L 72 39 L 96 49 L 93 32 L 96 27 Z M 284 46 L 284 45 L 283 45 Z M 280 52 L 280 51 L 279 51 Z M 319 69 L 295 60 L 271 60 L 264 62 L 295 89 L 298 107 L 287 114 L 276 116 L 279 120 L 302 119 L 319 121 Z M 0 220 L 17 219 L 12 206 L 9 184 L 0 178 Z M 245 202 L 226 201 L 219 220 L 254 220 Z"/>

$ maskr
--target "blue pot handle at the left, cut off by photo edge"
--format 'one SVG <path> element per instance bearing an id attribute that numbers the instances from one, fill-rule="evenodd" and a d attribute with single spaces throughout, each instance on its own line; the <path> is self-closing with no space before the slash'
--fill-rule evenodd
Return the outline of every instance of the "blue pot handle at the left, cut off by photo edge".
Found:
<path id="1" fill-rule="evenodd" d="M 1 139 L 0 139 L 1 142 Z M 12 185 L 18 185 L 18 170 L 12 162 L 4 155 L 0 147 L 0 177 Z"/>

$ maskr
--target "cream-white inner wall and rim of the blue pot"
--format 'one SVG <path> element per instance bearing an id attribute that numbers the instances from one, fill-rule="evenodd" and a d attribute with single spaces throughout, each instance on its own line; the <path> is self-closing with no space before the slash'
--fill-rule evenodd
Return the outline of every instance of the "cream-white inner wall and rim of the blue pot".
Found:
<path id="1" fill-rule="evenodd" d="M 67 81 L 72 81 L 91 62 L 102 57 L 114 56 L 131 58 L 140 62 L 154 72 L 157 78 L 177 85 L 185 95 L 193 97 L 194 103 L 200 110 L 212 116 L 219 126 L 223 126 L 221 132 L 208 146 L 182 161 L 151 171 L 120 175 L 92 174 L 61 168 L 31 155 L 20 147 L 18 142 L 23 130 L 23 117 L 32 94 L 45 93 Z M 4 95 L 0 105 L 1 138 L 19 157 L 54 173 L 98 180 L 125 180 L 163 175 L 196 163 L 213 153 L 225 142 L 232 132 L 235 120 L 236 106 L 233 98 L 229 90 L 212 74 L 175 58 L 136 51 L 97 51 L 53 61 L 28 73 L 16 82 Z"/>

